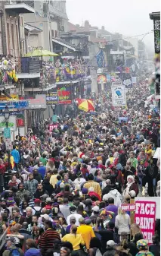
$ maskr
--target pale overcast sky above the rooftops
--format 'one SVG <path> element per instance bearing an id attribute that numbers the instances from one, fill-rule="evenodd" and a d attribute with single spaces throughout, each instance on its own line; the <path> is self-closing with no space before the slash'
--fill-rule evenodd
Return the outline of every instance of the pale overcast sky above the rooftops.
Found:
<path id="1" fill-rule="evenodd" d="M 67 0 L 67 15 L 73 24 L 86 20 L 91 26 L 104 26 L 111 33 L 136 36 L 153 30 L 149 13 L 160 11 L 159 0 Z M 142 39 L 139 36 L 138 39 Z M 153 33 L 144 37 L 153 46 Z"/>

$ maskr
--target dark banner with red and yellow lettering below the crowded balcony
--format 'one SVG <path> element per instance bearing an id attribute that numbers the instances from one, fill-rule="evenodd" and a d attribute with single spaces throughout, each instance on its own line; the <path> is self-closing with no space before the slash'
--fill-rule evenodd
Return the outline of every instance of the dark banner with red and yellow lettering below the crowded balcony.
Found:
<path id="1" fill-rule="evenodd" d="M 57 86 L 57 95 L 59 104 L 71 104 L 72 103 L 72 86 L 71 84 Z"/>

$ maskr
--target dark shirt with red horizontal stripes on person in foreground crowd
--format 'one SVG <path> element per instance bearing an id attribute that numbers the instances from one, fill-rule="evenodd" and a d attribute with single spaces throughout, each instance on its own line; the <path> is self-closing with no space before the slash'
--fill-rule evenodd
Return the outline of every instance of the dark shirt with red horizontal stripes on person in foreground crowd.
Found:
<path id="1" fill-rule="evenodd" d="M 39 239 L 39 248 L 42 251 L 47 251 L 48 249 L 52 249 L 54 245 L 54 240 L 60 240 L 60 235 L 54 229 L 47 229 Z"/>

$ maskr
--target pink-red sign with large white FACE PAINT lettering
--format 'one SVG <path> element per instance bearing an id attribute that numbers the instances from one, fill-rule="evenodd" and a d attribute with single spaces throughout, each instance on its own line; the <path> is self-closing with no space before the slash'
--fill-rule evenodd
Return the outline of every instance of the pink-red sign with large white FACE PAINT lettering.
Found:
<path id="1" fill-rule="evenodd" d="M 136 201 L 135 205 L 135 223 L 140 226 L 144 239 L 151 244 L 155 232 L 156 202 Z"/>

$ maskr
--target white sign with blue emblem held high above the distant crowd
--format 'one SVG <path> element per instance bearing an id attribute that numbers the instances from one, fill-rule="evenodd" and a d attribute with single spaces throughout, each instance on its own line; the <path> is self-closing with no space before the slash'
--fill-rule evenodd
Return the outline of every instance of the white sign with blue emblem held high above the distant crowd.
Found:
<path id="1" fill-rule="evenodd" d="M 113 83 L 116 84 L 116 83 Z M 112 103 L 113 106 L 126 106 L 126 97 L 125 97 L 125 85 L 112 84 Z"/>

